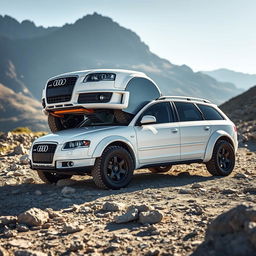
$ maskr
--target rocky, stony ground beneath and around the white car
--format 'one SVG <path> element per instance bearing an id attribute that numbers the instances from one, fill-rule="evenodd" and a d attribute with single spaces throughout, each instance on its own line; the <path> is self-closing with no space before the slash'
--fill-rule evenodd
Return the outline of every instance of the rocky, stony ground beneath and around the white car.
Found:
<path id="1" fill-rule="evenodd" d="M 255 205 L 255 152 L 240 148 L 229 177 L 212 177 L 200 164 L 165 174 L 145 169 L 127 188 L 106 191 L 91 177 L 43 184 L 27 164 L 35 137 L 0 138 L 1 256 L 254 255 L 256 211 L 225 212 Z M 231 241 L 247 247 L 220 254 Z"/>

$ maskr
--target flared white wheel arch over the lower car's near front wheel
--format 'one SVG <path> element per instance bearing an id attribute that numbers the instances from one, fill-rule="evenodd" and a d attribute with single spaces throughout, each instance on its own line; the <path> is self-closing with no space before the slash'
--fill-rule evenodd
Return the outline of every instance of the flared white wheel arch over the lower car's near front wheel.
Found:
<path id="1" fill-rule="evenodd" d="M 137 157 L 136 157 L 136 153 L 132 143 L 128 141 L 126 138 L 119 137 L 119 136 L 116 136 L 114 138 L 110 137 L 110 138 L 103 139 L 94 150 L 93 157 L 94 158 L 100 157 L 103 151 L 109 146 L 121 146 L 124 149 L 126 149 L 130 153 L 133 159 L 134 169 L 138 167 Z"/>

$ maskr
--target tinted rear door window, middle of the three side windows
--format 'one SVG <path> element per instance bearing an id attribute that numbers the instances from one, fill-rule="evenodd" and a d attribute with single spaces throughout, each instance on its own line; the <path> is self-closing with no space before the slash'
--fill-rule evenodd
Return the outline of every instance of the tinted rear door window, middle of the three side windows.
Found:
<path id="1" fill-rule="evenodd" d="M 202 114 L 193 103 L 175 102 L 180 121 L 200 121 L 203 120 Z"/>

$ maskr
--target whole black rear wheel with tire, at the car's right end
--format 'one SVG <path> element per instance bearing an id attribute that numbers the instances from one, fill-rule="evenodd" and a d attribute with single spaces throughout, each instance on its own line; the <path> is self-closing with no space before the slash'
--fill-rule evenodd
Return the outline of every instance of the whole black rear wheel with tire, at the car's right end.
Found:
<path id="1" fill-rule="evenodd" d="M 235 161 L 233 146 L 225 140 L 219 140 L 214 146 L 212 158 L 206 163 L 206 167 L 214 176 L 227 176 L 233 171 Z"/>

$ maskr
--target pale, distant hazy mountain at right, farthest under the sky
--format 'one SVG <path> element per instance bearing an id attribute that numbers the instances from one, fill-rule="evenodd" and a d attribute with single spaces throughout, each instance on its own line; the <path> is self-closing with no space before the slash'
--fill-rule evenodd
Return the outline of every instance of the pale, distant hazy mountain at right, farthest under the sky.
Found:
<path id="1" fill-rule="evenodd" d="M 202 71 L 204 74 L 212 76 L 221 82 L 230 82 L 235 84 L 238 88 L 244 90 L 249 89 L 256 84 L 256 74 L 246 74 L 242 72 L 236 72 L 233 70 L 221 68 L 213 71 Z"/>

